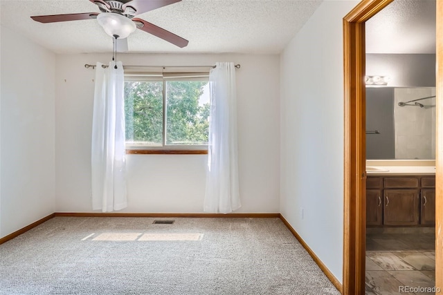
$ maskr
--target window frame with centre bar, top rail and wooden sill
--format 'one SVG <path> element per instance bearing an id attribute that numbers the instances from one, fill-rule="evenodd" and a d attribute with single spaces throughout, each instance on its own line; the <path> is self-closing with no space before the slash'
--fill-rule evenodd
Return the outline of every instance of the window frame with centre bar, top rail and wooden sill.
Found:
<path id="1" fill-rule="evenodd" d="M 164 69 L 164 68 L 163 68 Z M 125 73 L 126 81 L 162 82 L 162 143 L 160 144 L 127 144 L 127 154 L 178 154 L 178 155 L 205 155 L 208 154 L 208 144 L 166 144 L 167 131 L 167 97 L 166 83 L 168 81 L 206 81 L 209 82 L 209 71 L 202 72 L 129 72 Z"/>

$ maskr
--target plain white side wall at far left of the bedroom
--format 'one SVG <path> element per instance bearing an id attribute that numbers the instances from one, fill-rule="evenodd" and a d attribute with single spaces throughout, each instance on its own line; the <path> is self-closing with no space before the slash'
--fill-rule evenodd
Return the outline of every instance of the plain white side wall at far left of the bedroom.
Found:
<path id="1" fill-rule="evenodd" d="M 0 29 L 1 238 L 55 211 L 55 55 Z"/>

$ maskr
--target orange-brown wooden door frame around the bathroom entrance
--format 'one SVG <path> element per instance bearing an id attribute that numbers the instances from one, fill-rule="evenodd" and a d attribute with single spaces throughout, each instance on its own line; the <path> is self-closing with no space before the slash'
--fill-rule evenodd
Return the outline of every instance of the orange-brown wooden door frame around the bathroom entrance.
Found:
<path id="1" fill-rule="evenodd" d="M 343 294 L 365 294 L 365 21 L 392 0 L 363 0 L 343 21 L 345 57 L 345 220 Z M 437 36 L 443 31 L 443 4 L 437 1 Z M 437 146 L 443 142 L 443 42 L 437 40 Z M 439 85 L 440 84 L 440 85 Z M 440 132 L 439 132 L 440 131 Z M 443 150 L 437 149 L 436 227 L 443 222 Z M 437 231 L 438 232 L 438 231 Z M 435 236 L 435 285 L 443 289 L 443 236 Z"/>

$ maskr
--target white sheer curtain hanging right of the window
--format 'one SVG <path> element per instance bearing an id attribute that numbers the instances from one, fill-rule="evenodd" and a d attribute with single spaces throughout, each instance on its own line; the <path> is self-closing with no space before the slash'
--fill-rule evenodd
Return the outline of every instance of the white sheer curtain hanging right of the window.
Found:
<path id="1" fill-rule="evenodd" d="M 209 74 L 210 123 L 204 211 L 229 213 L 242 206 L 237 164 L 235 65 L 217 62 Z"/>

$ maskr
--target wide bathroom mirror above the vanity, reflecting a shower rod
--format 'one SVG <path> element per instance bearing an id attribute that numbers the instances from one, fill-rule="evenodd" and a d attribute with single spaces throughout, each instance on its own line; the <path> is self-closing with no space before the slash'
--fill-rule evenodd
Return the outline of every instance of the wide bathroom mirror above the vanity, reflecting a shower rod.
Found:
<path id="1" fill-rule="evenodd" d="M 435 87 L 366 88 L 366 159 L 435 160 Z"/>

